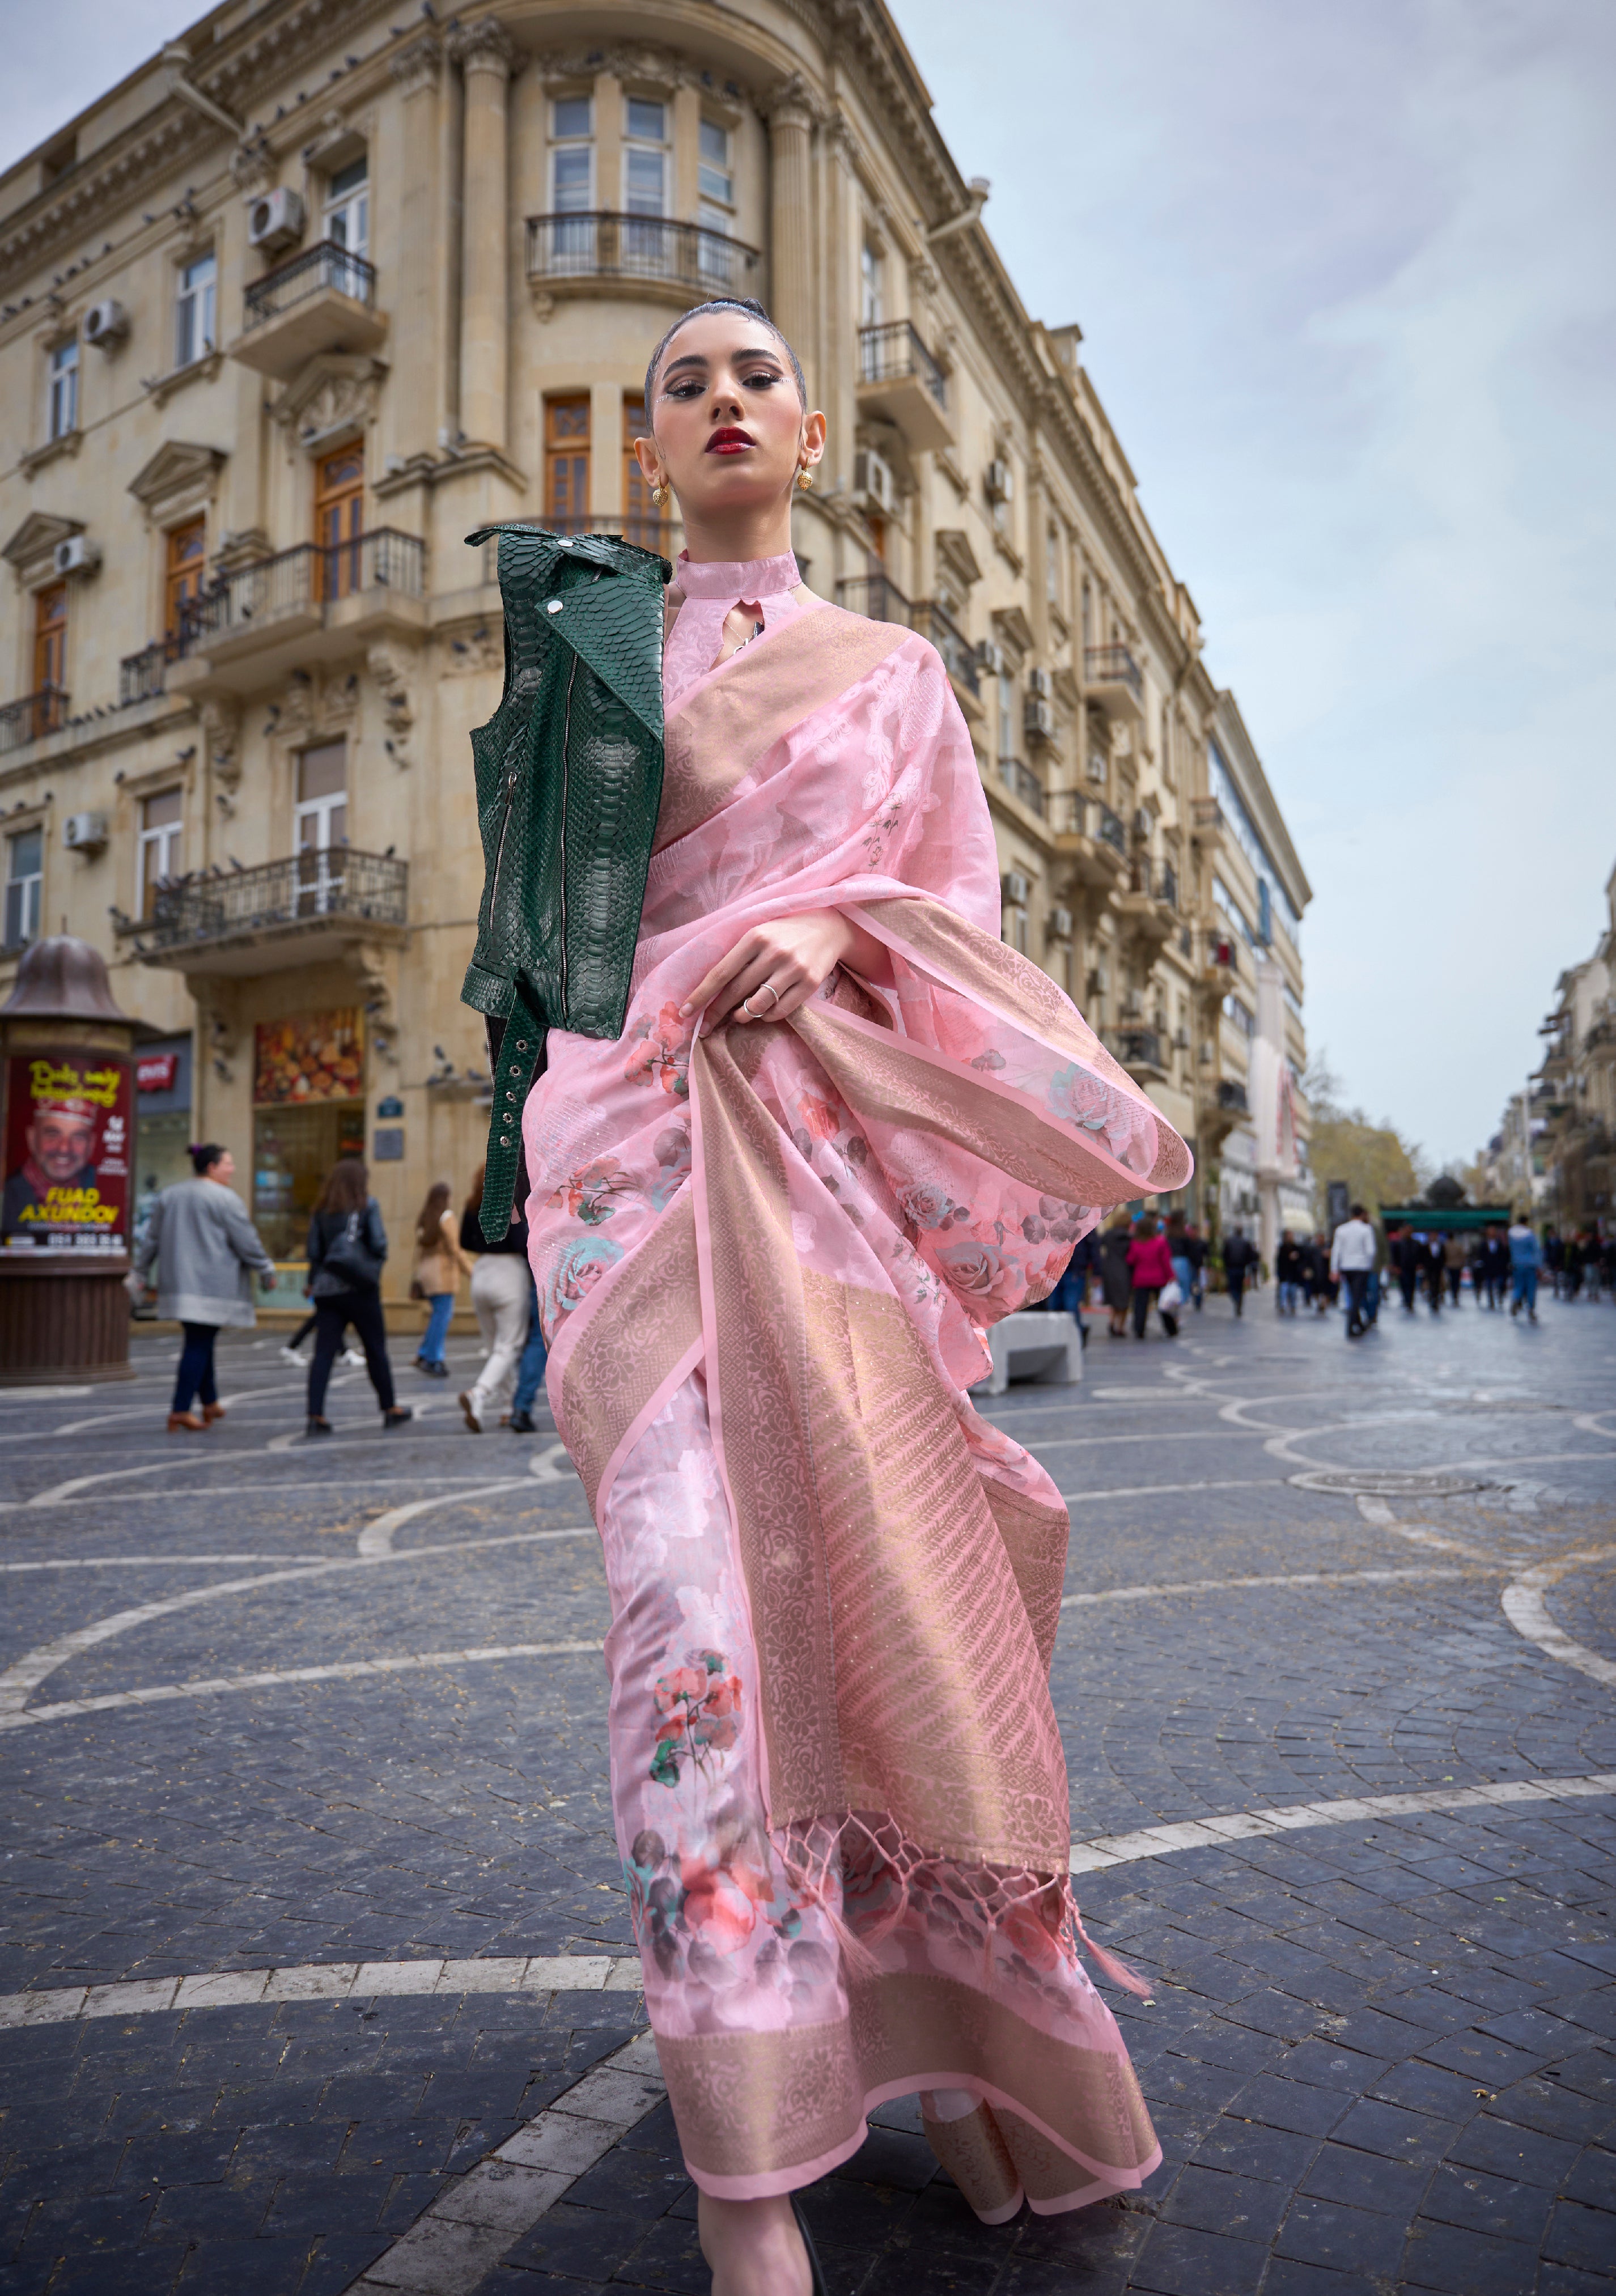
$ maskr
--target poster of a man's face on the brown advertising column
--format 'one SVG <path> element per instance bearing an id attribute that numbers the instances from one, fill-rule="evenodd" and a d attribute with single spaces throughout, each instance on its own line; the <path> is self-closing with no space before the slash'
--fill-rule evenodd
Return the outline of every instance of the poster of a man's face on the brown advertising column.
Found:
<path id="1" fill-rule="evenodd" d="M 0 1249 L 129 1249 L 133 1075 L 108 1052 L 14 1052 Z"/>

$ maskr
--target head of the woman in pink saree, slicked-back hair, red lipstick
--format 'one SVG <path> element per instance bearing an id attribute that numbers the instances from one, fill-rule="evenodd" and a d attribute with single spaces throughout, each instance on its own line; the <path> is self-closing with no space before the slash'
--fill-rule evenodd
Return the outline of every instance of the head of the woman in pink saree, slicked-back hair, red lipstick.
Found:
<path id="1" fill-rule="evenodd" d="M 640 468 L 698 521 L 780 503 L 824 452 L 824 416 L 803 413 L 780 342 L 735 310 L 691 319 L 673 338 L 650 425 L 652 436 L 634 443 Z"/>

